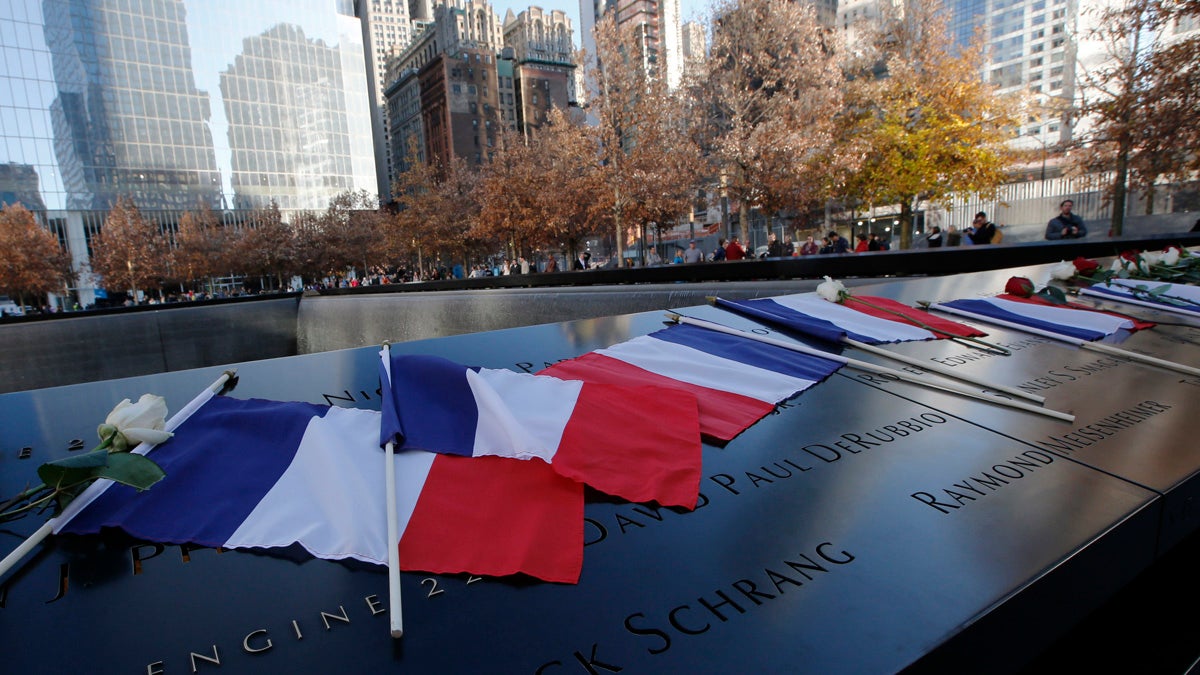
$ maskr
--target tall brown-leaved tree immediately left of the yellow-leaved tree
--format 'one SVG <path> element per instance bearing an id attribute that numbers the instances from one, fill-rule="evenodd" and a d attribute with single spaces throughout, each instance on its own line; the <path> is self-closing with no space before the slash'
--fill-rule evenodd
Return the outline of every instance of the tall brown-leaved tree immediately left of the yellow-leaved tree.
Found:
<path id="1" fill-rule="evenodd" d="M 802 2 L 726 0 L 714 11 L 701 104 L 715 171 L 749 240 L 751 207 L 806 210 L 839 183 L 847 159 L 835 144 L 839 44 Z"/>

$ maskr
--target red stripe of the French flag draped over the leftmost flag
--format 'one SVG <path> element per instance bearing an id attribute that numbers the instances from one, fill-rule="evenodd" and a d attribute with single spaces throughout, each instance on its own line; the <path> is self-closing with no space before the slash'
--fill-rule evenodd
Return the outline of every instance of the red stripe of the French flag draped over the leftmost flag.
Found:
<path id="1" fill-rule="evenodd" d="M 701 467 L 696 396 L 586 382 L 553 466 L 631 502 L 695 508 Z"/>

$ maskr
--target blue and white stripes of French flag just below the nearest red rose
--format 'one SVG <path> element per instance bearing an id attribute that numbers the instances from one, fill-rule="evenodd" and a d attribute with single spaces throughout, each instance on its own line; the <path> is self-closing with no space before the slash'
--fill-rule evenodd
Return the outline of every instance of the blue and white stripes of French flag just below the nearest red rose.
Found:
<path id="1" fill-rule="evenodd" d="M 1058 305 L 1021 303 L 1000 297 L 950 300 L 934 305 L 960 316 L 997 319 L 1015 325 L 1066 335 L 1078 340 L 1096 341 L 1117 330 L 1133 330 L 1134 322 L 1105 312 L 1079 311 Z"/>

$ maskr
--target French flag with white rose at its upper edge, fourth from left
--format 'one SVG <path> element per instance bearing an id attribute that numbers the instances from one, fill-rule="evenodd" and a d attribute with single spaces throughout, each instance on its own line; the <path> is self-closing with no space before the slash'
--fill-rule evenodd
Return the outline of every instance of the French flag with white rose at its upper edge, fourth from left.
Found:
<path id="1" fill-rule="evenodd" d="M 961 338 L 985 335 L 977 328 L 910 307 L 889 298 L 864 295 L 830 303 L 816 293 L 796 293 L 751 300 L 716 299 L 716 306 L 829 342 L 844 339 L 868 345 L 936 340 L 946 334 Z M 913 321 L 941 330 L 934 333 Z"/>

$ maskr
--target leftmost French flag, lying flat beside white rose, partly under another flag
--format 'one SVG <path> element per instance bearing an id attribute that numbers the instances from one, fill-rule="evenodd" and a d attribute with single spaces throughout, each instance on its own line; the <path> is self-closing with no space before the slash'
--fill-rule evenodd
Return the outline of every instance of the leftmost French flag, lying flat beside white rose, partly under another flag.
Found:
<path id="1" fill-rule="evenodd" d="M 374 411 L 211 395 L 150 455 L 152 489 L 98 480 L 55 532 L 119 527 L 150 542 L 227 549 L 299 544 L 326 560 L 388 565 L 385 480 Z M 583 488 L 540 462 L 396 454 L 400 566 L 524 573 L 576 583 Z"/>

